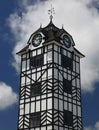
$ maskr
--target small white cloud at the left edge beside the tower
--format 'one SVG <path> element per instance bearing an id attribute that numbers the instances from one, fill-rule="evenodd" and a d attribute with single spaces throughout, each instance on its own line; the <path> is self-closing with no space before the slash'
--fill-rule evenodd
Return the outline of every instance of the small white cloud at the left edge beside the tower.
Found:
<path id="1" fill-rule="evenodd" d="M 0 82 L 0 110 L 6 109 L 17 102 L 18 96 L 11 86 Z"/>

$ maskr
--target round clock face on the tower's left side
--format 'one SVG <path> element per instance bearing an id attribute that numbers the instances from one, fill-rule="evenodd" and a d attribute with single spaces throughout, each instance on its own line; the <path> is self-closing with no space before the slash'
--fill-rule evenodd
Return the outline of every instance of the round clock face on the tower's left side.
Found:
<path id="1" fill-rule="evenodd" d="M 40 45 L 41 42 L 42 42 L 42 35 L 40 33 L 35 34 L 34 37 L 32 38 L 32 45 L 34 47 L 37 47 Z"/>

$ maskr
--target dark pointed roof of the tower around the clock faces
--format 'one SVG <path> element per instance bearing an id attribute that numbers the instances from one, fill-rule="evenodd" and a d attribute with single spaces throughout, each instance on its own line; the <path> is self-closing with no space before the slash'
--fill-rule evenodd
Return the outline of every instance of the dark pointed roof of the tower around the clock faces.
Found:
<path id="1" fill-rule="evenodd" d="M 73 42 L 73 46 L 75 45 L 74 41 L 73 41 L 73 38 L 72 36 L 67 32 L 65 31 L 63 28 L 58 28 L 56 27 L 52 21 L 50 21 L 50 23 L 45 26 L 44 28 L 40 27 L 38 30 L 36 30 L 29 38 L 28 42 L 27 42 L 27 46 L 25 46 L 22 50 L 20 50 L 17 54 L 22 54 L 24 52 L 27 52 L 29 51 L 29 45 L 31 44 L 30 43 L 30 39 L 33 37 L 33 35 L 37 34 L 37 33 L 42 33 L 45 37 L 45 41 L 43 44 L 46 44 L 48 42 L 51 42 L 51 41 L 56 41 L 58 42 L 59 44 L 61 44 L 60 42 L 60 38 L 62 36 L 62 34 L 67 34 L 71 39 L 72 39 L 72 42 Z M 74 52 L 79 55 L 81 58 L 84 57 L 84 55 L 82 53 L 80 53 L 76 48 L 74 48 Z"/>

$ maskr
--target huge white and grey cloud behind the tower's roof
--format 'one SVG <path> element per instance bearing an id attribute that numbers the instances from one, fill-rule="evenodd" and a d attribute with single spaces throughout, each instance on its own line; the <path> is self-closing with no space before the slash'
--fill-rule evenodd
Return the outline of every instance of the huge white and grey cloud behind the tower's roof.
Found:
<path id="1" fill-rule="evenodd" d="M 13 49 L 13 66 L 19 71 L 20 59 L 16 56 L 30 35 L 39 28 L 40 23 L 46 26 L 49 23 L 47 10 L 51 3 L 56 10 L 54 24 L 61 28 L 62 24 L 74 38 L 76 47 L 86 55 L 81 60 L 82 89 L 84 92 L 93 92 L 94 83 L 99 80 L 99 13 L 93 4 L 96 0 L 48 0 L 35 4 L 23 2 L 24 10 L 21 15 L 15 12 L 10 15 L 8 22 L 15 36 Z M 93 6 L 94 5 L 94 6 Z M 23 7 L 22 7 L 23 8 Z"/>

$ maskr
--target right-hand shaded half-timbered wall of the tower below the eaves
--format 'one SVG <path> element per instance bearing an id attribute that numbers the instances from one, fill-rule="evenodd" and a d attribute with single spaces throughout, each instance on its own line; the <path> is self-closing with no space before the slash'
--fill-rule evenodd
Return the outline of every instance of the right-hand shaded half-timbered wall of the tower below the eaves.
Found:
<path id="1" fill-rule="evenodd" d="M 54 129 L 82 130 L 80 58 L 54 45 Z"/>

